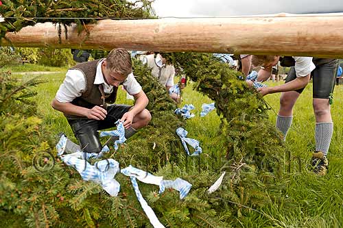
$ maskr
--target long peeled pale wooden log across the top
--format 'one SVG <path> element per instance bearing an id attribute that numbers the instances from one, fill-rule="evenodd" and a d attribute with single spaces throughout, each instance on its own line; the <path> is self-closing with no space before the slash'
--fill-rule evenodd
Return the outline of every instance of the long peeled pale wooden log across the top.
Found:
<path id="1" fill-rule="evenodd" d="M 14 47 L 140 51 L 196 51 L 343 58 L 342 14 L 279 14 L 230 18 L 102 20 L 78 34 L 69 27 L 65 39 L 57 27 L 38 23 L 8 33 Z M 88 34 L 87 32 L 88 31 Z M 10 42 L 2 40 L 2 45 Z"/>

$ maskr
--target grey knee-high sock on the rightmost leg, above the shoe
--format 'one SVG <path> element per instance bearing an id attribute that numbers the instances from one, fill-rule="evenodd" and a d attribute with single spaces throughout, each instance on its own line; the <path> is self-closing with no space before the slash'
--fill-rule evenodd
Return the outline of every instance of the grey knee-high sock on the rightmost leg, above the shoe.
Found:
<path id="1" fill-rule="evenodd" d="M 316 123 L 316 151 L 322 151 L 324 155 L 327 155 L 329 151 L 331 137 L 333 134 L 333 123 L 322 122 Z"/>

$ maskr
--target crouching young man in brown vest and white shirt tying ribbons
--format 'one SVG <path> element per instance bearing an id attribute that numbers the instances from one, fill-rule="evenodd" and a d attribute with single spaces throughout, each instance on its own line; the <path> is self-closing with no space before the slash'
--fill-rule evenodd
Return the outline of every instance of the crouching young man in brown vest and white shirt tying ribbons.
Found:
<path id="1" fill-rule="evenodd" d="M 115 103 L 119 85 L 134 97 L 133 106 L 108 105 Z M 150 122 L 150 112 L 145 109 L 148 102 L 132 74 L 130 53 L 119 48 L 110 51 L 104 59 L 70 68 L 51 106 L 66 116 L 84 152 L 99 153 L 102 144 L 98 130 L 115 127 L 115 122 L 120 120 L 126 138 L 130 138 Z"/>

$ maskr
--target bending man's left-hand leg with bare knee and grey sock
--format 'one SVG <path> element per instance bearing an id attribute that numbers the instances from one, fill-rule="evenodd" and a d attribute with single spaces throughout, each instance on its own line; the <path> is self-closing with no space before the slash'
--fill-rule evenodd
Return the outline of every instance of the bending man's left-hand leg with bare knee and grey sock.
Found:
<path id="1" fill-rule="evenodd" d="M 287 132 L 293 121 L 293 107 L 300 93 L 296 91 L 283 92 L 280 97 L 280 110 L 276 117 L 276 128 L 283 133 L 286 140 Z"/>

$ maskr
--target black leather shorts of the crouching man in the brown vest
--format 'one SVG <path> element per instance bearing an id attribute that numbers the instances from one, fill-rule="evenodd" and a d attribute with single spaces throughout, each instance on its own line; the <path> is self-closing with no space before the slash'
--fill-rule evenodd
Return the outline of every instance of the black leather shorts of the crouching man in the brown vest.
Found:
<path id="1" fill-rule="evenodd" d="M 107 107 L 107 116 L 104 121 L 96 121 L 88 118 L 68 120 L 75 138 L 78 139 L 80 147 L 86 153 L 99 153 L 102 144 L 99 140 L 99 130 L 115 127 L 115 122 L 123 114 L 128 112 L 130 105 L 110 105 Z"/>

